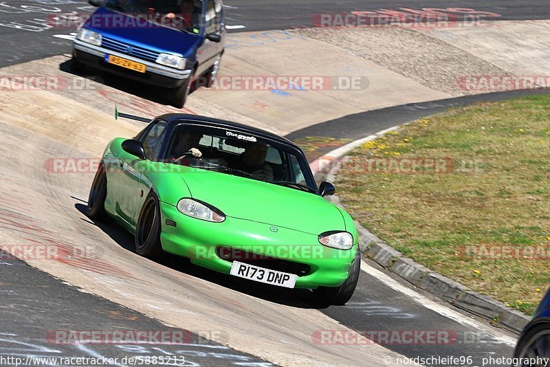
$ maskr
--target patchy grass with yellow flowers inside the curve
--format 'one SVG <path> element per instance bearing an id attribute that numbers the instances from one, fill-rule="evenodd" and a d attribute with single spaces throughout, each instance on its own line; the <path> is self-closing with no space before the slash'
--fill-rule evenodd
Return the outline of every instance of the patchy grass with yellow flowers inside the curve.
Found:
<path id="1" fill-rule="evenodd" d="M 436 174 L 366 169 L 366 159 L 382 158 L 445 159 L 450 166 Z M 362 225 L 471 289 L 527 314 L 536 309 L 550 285 L 550 258 L 483 258 L 461 249 L 550 245 L 550 96 L 422 119 L 349 159 L 338 193 Z"/>

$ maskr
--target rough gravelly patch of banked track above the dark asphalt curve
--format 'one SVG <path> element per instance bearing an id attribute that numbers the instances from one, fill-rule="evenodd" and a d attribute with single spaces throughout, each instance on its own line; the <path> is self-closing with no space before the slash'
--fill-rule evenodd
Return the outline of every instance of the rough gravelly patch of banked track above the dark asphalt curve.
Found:
<path id="1" fill-rule="evenodd" d="M 465 76 L 511 76 L 509 71 L 462 49 L 405 28 L 307 28 L 292 32 L 346 49 L 450 96 L 472 94 L 459 87 Z"/>

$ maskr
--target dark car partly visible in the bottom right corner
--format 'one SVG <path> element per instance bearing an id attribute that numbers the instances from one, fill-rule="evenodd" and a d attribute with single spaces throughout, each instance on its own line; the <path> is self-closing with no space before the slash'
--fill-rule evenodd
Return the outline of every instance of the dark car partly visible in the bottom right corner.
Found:
<path id="1" fill-rule="evenodd" d="M 522 363 L 519 366 L 550 366 L 550 289 L 542 298 L 533 320 L 523 329 L 514 357 L 522 359 L 539 357 L 539 363 Z"/>

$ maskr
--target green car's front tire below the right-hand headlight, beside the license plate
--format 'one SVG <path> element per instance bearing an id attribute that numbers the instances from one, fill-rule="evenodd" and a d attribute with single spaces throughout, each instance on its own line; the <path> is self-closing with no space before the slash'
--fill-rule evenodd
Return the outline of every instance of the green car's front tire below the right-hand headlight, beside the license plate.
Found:
<path id="1" fill-rule="evenodd" d="M 318 287 L 314 289 L 314 298 L 322 304 L 334 304 L 344 306 L 355 291 L 361 271 L 361 252 L 357 249 L 355 259 L 349 268 L 348 278 L 340 285 L 340 287 Z"/>

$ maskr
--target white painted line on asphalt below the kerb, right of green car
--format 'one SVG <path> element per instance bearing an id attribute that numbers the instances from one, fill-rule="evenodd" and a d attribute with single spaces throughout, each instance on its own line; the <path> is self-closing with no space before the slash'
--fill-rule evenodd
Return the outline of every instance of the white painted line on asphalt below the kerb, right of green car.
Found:
<path id="1" fill-rule="evenodd" d="M 450 320 L 454 320 L 465 326 L 472 326 L 475 329 L 484 331 L 485 333 L 492 335 L 495 340 L 503 342 L 507 346 L 511 346 L 512 348 L 516 346 L 517 340 L 513 337 L 509 337 L 508 335 L 500 333 L 496 331 L 496 329 L 489 329 L 485 324 L 482 324 L 481 322 L 468 318 L 462 313 L 450 309 L 450 307 L 448 306 L 443 306 L 437 302 L 430 300 L 429 298 L 422 296 L 420 293 L 417 293 L 416 291 L 399 284 L 399 282 L 397 282 L 387 274 L 384 274 L 384 272 L 371 267 L 371 265 L 365 263 L 363 260 L 361 260 L 361 270 L 377 278 L 377 280 L 380 280 L 380 282 L 383 282 L 391 289 L 403 293 L 405 296 L 408 296 L 418 304 L 421 304 L 421 306 L 426 307 L 426 309 L 437 312 L 445 318 L 449 318 Z"/>

